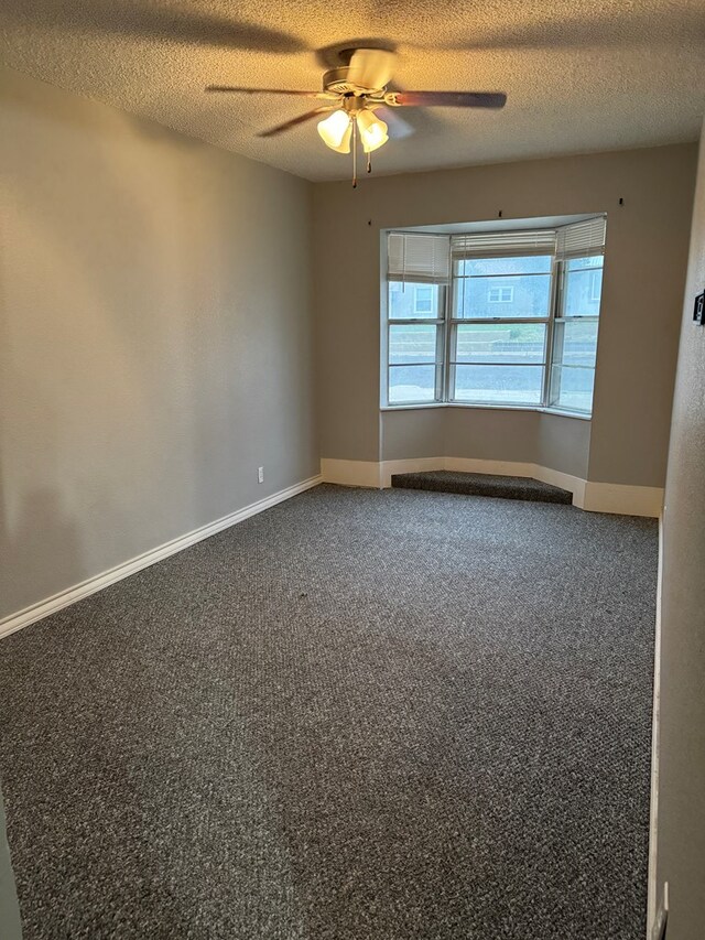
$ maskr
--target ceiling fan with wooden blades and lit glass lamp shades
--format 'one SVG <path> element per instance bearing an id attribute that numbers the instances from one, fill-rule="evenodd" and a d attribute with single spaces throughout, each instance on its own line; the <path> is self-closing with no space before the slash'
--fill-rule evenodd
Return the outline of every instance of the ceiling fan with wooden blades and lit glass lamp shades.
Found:
<path id="1" fill-rule="evenodd" d="M 237 85 L 208 85 L 206 91 L 240 91 L 246 95 L 293 95 L 314 98 L 322 104 L 284 123 L 261 131 L 259 137 L 275 137 L 297 125 L 327 115 L 318 122 L 323 142 L 338 153 L 352 150 L 352 185 L 357 185 L 358 136 L 367 154 L 367 172 L 371 170 L 370 153 L 392 137 L 405 137 L 411 128 L 395 114 L 402 107 L 503 108 L 507 95 L 502 91 L 390 91 L 394 53 L 384 48 L 352 48 L 340 53 L 345 63 L 323 75 L 322 91 L 299 91 L 284 88 L 245 88 Z M 381 111 L 386 120 L 379 116 Z M 351 144 L 351 148 L 350 148 Z"/>

